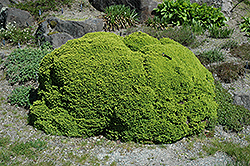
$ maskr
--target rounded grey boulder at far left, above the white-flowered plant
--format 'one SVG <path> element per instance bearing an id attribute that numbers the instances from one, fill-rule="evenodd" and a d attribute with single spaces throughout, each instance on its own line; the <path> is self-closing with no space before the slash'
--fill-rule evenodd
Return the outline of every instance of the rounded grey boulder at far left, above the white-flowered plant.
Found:
<path id="1" fill-rule="evenodd" d="M 15 24 L 19 28 L 27 27 L 27 23 L 31 26 L 34 25 L 35 20 L 29 12 L 16 8 L 3 8 L 0 13 L 0 28 L 6 28 L 8 23 Z"/>

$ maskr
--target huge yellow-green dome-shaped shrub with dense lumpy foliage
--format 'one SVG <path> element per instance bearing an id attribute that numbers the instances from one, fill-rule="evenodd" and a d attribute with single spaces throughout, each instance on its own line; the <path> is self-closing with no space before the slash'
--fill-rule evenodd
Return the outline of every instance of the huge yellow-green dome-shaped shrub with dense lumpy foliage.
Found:
<path id="1" fill-rule="evenodd" d="M 142 32 L 70 40 L 43 58 L 39 83 L 30 123 L 49 134 L 171 143 L 217 116 L 212 74 L 189 49 Z"/>

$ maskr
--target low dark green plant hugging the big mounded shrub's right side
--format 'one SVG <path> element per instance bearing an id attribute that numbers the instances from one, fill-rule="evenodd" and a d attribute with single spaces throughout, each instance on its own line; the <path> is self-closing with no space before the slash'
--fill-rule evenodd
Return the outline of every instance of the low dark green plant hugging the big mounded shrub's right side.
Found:
<path id="1" fill-rule="evenodd" d="M 220 82 L 215 82 L 215 100 L 218 103 L 218 123 L 225 130 L 241 131 L 244 125 L 250 124 L 250 111 L 243 106 L 235 105 L 231 94 Z"/>

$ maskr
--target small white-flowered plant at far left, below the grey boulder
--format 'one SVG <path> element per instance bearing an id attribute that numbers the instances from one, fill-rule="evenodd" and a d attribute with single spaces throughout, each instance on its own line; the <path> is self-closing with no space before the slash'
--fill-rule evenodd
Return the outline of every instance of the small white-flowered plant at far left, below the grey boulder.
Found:
<path id="1" fill-rule="evenodd" d="M 32 26 L 21 29 L 15 24 L 9 23 L 6 25 L 6 29 L 0 29 L 0 39 L 4 39 L 12 45 L 34 43 L 34 31 Z"/>

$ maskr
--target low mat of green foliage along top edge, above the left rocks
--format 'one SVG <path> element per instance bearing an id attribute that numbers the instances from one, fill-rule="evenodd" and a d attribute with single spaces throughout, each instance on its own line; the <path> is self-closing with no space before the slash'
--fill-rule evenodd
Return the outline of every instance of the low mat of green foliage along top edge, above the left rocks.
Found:
<path id="1" fill-rule="evenodd" d="M 14 4 L 12 7 L 26 10 L 35 17 L 36 20 L 40 20 L 39 10 L 42 13 L 47 11 L 58 11 L 63 5 L 70 6 L 73 0 L 24 0 L 22 3 Z"/>

